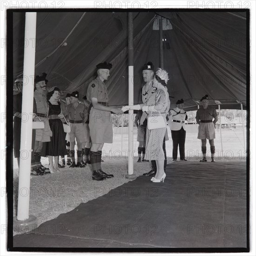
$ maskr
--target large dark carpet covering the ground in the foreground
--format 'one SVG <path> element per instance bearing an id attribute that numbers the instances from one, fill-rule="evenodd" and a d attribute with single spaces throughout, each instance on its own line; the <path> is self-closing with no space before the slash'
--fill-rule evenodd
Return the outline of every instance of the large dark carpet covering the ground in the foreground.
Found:
<path id="1" fill-rule="evenodd" d="M 174 162 L 13 236 L 13 247 L 246 248 L 246 162 Z M 95 193 L 104 188 L 99 182 Z M 100 195 L 100 194 L 99 194 Z"/>

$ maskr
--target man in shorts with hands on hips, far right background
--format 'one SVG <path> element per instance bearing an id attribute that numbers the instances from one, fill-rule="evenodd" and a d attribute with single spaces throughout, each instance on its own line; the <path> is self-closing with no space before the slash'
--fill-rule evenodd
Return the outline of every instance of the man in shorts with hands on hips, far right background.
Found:
<path id="1" fill-rule="evenodd" d="M 202 140 L 202 155 L 203 158 L 200 162 L 207 162 L 206 159 L 206 139 L 209 140 L 211 149 L 211 162 L 215 162 L 215 124 L 218 121 L 218 114 L 216 109 L 213 107 L 208 107 L 208 95 L 202 97 L 200 100 L 202 102 L 202 108 L 196 111 L 196 122 L 199 124 L 197 139 Z M 214 120 L 213 120 L 214 119 Z"/>

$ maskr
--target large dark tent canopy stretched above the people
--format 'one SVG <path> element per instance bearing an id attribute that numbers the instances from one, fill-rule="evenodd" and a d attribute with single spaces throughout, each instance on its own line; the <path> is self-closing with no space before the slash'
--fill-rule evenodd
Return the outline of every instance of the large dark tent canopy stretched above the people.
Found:
<path id="1" fill-rule="evenodd" d="M 187 109 L 197 109 L 208 94 L 222 108 L 246 108 L 247 13 L 227 11 L 135 10 L 134 103 L 141 103 L 143 64 L 160 67 L 159 30 L 153 30 L 159 17 L 172 26 L 162 38 L 171 107 L 183 98 Z M 84 96 L 95 66 L 107 61 L 109 104 L 128 104 L 127 10 L 38 12 L 36 27 L 36 40 L 24 41 L 25 12 L 13 13 L 13 78 L 23 72 L 24 42 L 34 42 L 35 74 L 47 73 L 47 86 L 59 87 L 62 97 L 74 90 Z"/>

